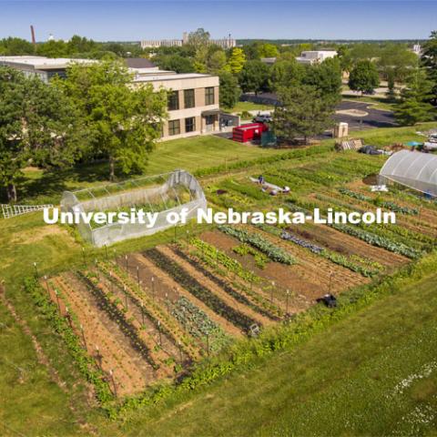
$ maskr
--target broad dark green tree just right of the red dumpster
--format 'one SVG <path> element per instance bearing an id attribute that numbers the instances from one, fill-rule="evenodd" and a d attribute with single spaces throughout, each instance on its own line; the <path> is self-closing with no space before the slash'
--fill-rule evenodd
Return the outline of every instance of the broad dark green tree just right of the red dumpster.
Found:
<path id="1" fill-rule="evenodd" d="M 275 107 L 273 129 L 278 137 L 294 140 L 320 135 L 332 126 L 336 100 L 323 95 L 315 86 L 292 86 L 279 89 L 280 105 Z"/>

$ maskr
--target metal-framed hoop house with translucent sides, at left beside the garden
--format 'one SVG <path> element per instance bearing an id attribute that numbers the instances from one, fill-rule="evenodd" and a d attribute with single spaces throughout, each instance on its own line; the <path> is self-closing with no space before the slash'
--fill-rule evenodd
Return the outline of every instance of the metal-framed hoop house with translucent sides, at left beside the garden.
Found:
<path id="1" fill-rule="evenodd" d="M 206 210 L 207 199 L 198 180 L 185 170 L 175 170 L 156 176 L 129 179 L 121 183 L 107 184 L 96 188 L 64 191 L 61 210 L 73 213 L 125 212 L 129 216 L 135 210 L 156 215 L 155 223 L 121 223 L 105 220 L 89 223 L 82 217 L 77 229 L 83 239 L 100 248 L 124 239 L 152 235 L 174 224 L 168 221 L 170 211 L 179 213 L 187 208 L 187 219 L 197 216 L 198 209 Z M 77 214 L 75 214 L 77 215 Z"/>

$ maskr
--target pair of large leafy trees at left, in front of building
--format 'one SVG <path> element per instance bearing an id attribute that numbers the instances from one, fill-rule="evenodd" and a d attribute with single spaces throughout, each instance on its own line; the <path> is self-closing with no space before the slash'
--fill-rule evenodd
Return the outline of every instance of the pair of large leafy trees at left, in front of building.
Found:
<path id="1" fill-rule="evenodd" d="M 116 165 L 124 174 L 140 173 L 161 135 L 166 92 L 134 89 L 123 62 L 73 64 L 66 73 L 46 84 L 0 67 L 0 186 L 9 201 L 16 201 L 29 166 L 56 171 L 106 158 L 110 179 Z"/>

